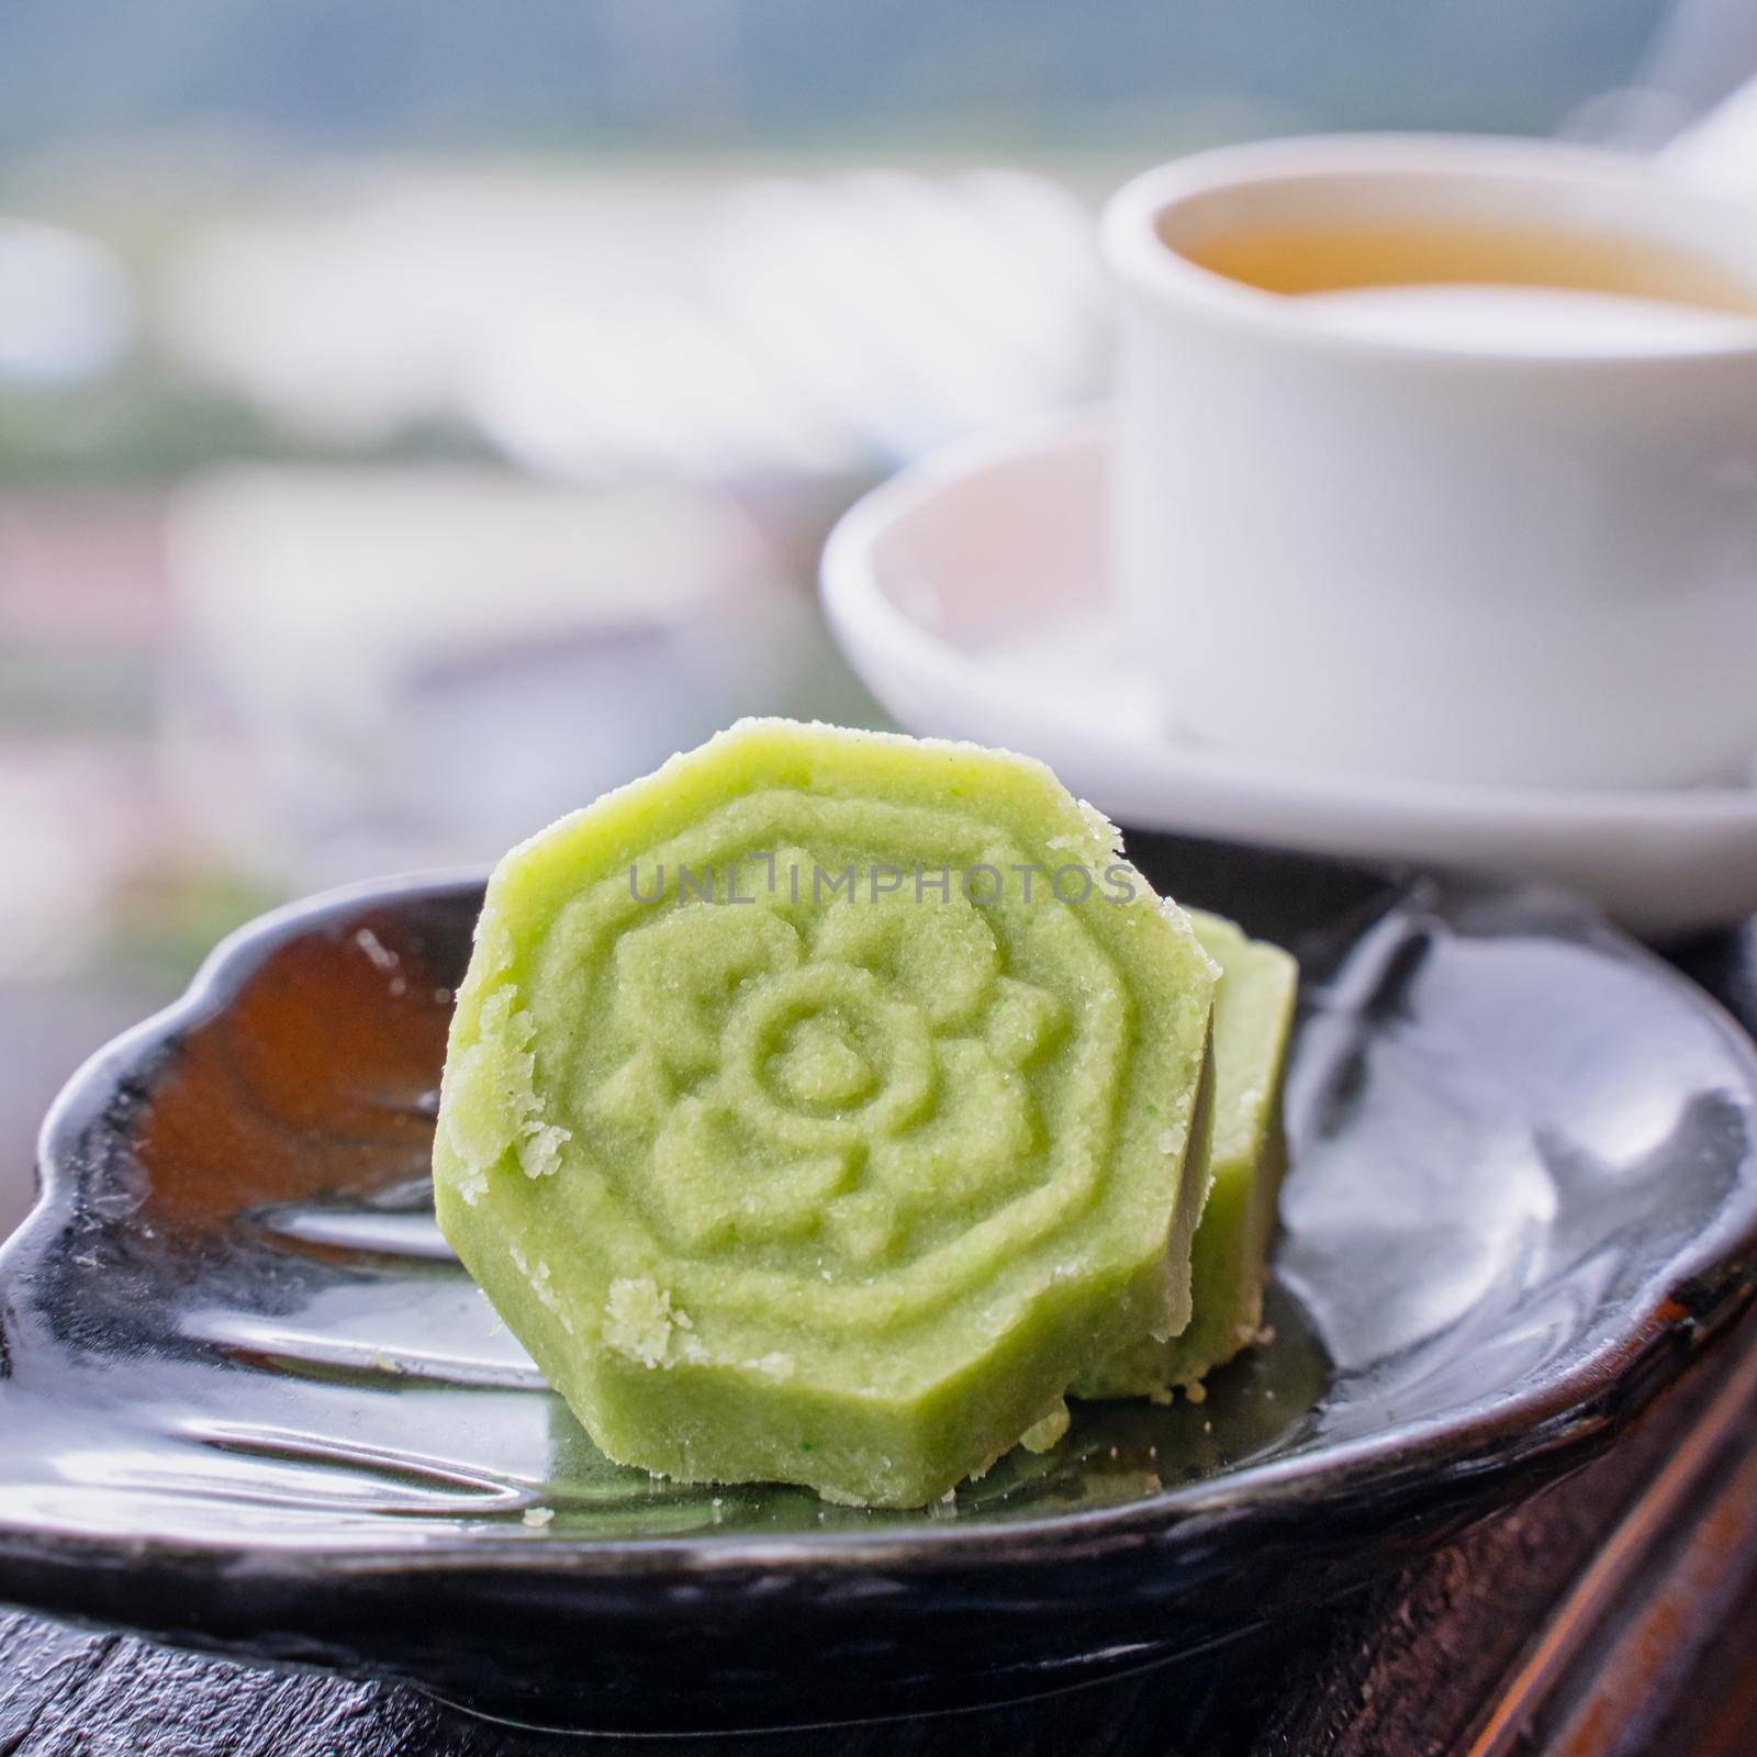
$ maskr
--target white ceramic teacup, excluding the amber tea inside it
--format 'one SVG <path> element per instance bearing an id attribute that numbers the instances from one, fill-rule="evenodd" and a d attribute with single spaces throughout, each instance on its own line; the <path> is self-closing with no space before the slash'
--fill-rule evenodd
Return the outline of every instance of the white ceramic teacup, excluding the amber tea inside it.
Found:
<path id="1" fill-rule="evenodd" d="M 1620 241 L 1713 265 L 1757 309 L 1757 207 L 1620 155 L 1334 137 L 1137 177 L 1103 227 L 1124 295 L 1114 543 L 1168 720 L 1360 773 L 1739 775 L 1757 320 L 1516 290 L 1290 297 L 1184 255 L 1404 220 Z"/>

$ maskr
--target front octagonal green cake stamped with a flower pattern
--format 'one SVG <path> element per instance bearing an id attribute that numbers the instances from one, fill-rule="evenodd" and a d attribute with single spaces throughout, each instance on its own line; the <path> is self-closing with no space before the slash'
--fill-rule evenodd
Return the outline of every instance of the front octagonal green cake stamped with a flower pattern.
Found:
<path id="1" fill-rule="evenodd" d="M 1212 991 L 1040 764 L 741 722 L 495 870 L 439 1225 L 611 1458 L 919 1506 L 1188 1321 Z"/>

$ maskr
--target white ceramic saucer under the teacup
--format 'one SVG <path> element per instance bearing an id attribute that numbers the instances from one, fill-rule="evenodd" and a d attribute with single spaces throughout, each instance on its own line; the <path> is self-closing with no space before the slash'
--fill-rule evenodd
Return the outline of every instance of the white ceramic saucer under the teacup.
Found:
<path id="1" fill-rule="evenodd" d="M 824 550 L 854 668 L 905 726 L 1042 757 L 1123 824 L 1550 878 L 1673 935 L 1757 910 L 1757 789 L 1377 780 L 1174 740 L 1105 568 L 1102 413 L 958 446 L 868 494 Z"/>

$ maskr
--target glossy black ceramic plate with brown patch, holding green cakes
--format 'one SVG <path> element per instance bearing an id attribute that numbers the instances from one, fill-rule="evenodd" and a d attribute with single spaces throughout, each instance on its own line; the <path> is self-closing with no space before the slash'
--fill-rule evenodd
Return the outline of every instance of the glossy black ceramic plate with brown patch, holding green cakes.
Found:
<path id="1" fill-rule="evenodd" d="M 1444 1539 L 1739 1309 L 1757 1068 L 1666 966 L 1529 891 L 1132 845 L 1304 970 L 1274 1341 L 1207 1402 L 1086 1407 L 931 1515 L 606 1464 L 432 1226 L 480 887 L 395 884 L 230 940 L 51 1116 L 0 1597 L 550 1724 L 994 1701 Z"/>

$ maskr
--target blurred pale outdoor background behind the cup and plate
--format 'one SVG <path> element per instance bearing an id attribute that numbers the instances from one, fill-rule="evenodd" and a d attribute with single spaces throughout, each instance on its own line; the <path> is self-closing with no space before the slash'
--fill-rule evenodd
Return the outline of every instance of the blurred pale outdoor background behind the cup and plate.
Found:
<path id="1" fill-rule="evenodd" d="M 278 900 L 745 712 L 912 455 L 1100 395 L 1130 170 L 1666 139 L 1746 0 L 7 0 L 0 1233 L 60 1081 Z"/>

